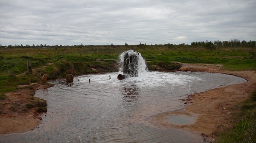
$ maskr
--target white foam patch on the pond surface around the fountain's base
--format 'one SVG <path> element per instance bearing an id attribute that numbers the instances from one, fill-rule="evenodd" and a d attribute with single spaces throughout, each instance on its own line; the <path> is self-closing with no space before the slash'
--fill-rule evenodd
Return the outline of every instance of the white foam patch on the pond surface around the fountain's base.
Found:
<path id="1" fill-rule="evenodd" d="M 156 72 L 156 71 L 148 71 L 143 72 L 138 77 L 130 77 L 119 81 L 117 79 L 117 75 L 119 72 L 115 73 L 105 73 L 101 75 L 84 75 L 80 76 L 81 84 L 88 83 L 88 79 L 90 79 L 91 83 L 95 84 L 108 84 L 111 87 L 118 86 L 119 84 L 127 84 L 127 85 L 136 85 L 137 87 L 165 87 L 170 85 L 184 85 L 191 84 L 195 81 L 200 81 L 201 78 L 198 76 L 191 76 L 188 74 L 171 73 L 171 72 Z M 109 80 L 109 76 L 111 76 L 111 80 Z"/>

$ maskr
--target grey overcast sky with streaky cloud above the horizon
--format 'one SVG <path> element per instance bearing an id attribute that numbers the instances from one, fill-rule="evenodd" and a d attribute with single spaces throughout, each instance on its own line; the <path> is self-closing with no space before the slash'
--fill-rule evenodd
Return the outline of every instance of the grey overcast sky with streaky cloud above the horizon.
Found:
<path id="1" fill-rule="evenodd" d="M 256 41 L 256 0 L 0 0 L 1 45 Z"/>

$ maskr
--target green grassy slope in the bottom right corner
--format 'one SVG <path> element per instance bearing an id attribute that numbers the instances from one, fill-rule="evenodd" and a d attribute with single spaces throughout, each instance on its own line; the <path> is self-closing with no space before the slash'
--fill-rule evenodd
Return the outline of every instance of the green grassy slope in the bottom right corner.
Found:
<path id="1" fill-rule="evenodd" d="M 256 90 L 250 98 L 233 107 L 239 111 L 239 123 L 232 129 L 216 133 L 215 143 L 256 143 Z"/>

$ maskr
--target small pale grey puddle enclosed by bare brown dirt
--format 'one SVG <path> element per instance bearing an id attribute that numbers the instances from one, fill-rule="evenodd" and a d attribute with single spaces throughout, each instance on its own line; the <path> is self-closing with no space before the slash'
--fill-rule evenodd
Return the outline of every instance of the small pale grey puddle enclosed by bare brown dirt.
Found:
<path id="1" fill-rule="evenodd" d="M 176 125 L 188 125 L 195 123 L 197 116 L 188 116 L 188 115 L 170 115 L 168 117 L 169 123 Z"/>

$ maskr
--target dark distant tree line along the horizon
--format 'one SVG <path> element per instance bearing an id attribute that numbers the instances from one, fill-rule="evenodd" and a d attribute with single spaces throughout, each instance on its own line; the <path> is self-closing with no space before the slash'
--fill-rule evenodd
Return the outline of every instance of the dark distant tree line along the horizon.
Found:
<path id="1" fill-rule="evenodd" d="M 231 39 L 230 41 L 214 41 L 214 42 L 211 42 L 211 41 L 208 41 L 206 40 L 205 42 L 204 41 L 199 41 L 199 42 L 191 42 L 191 45 L 185 45 L 185 43 L 181 43 L 179 45 L 175 45 L 175 44 L 155 44 L 155 45 L 146 45 L 145 44 L 138 44 L 137 46 L 140 46 L 140 47 L 143 47 L 143 46 L 168 46 L 169 48 L 173 48 L 173 47 L 205 47 L 205 48 L 209 48 L 209 49 L 215 49 L 216 47 L 251 47 L 251 48 L 255 48 L 256 47 L 256 42 L 255 41 L 241 41 L 239 39 Z M 87 46 L 95 46 L 95 45 L 87 45 Z M 116 47 L 116 45 L 103 45 L 103 46 L 112 46 L 112 47 Z M 119 45 L 117 45 L 119 46 Z M 127 42 L 125 42 L 125 46 L 128 46 Z M 46 44 L 40 44 L 40 45 L 25 45 L 23 46 L 22 44 L 20 45 L 8 45 L 8 46 L 2 46 L 0 45 L 0 48 L 83 48 L 83 47 L 86 47 L 86 45 L 83 45 L 81 43 L 81 45 L 46 45 Z"/>

